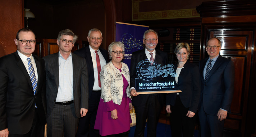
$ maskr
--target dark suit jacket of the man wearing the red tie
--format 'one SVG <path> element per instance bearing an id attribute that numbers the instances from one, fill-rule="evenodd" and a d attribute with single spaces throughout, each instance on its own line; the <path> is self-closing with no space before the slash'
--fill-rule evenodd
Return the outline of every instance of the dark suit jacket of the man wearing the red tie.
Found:
<path id="1" fill-rule="evenodd" d="M 90 45 L 89 45 L 90 46 Z M 93 63 L 92 63 L 92 55 L 89 46 L 84 47 L 82 49 L 74 51 L 74 54 L 77 54 L 83 58 L 86 59 L 87 63 L 87 69 L 88 69 L 88 77 L 89 77 L 89 98 L 92 94 L 92 88 L 94 85 L 94 72 L 93 72 Z M 99 48 L 101 54 L 106 60 L 106 63 L 108 63 L 108 52 L 105 49 Z"/>

